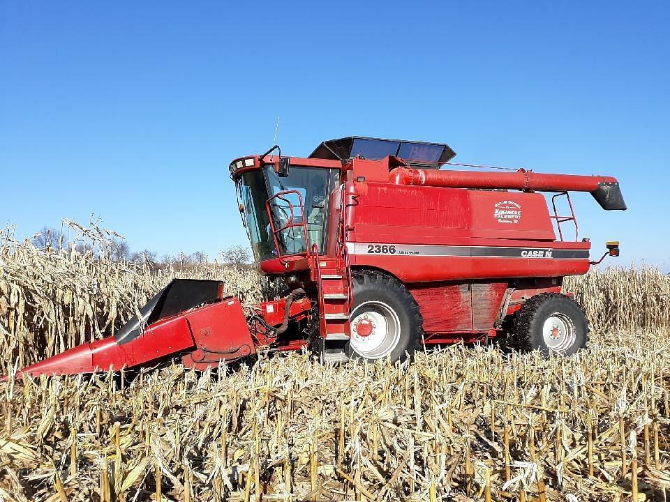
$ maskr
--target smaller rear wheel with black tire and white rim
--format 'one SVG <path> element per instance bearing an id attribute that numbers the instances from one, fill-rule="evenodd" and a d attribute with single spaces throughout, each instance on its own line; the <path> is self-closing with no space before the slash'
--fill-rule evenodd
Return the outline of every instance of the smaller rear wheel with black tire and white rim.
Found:
<path id="1" fill-rule="evenodd" d="M 586 347 L 588 321 L 572 298 L 543 293 L 530 298 L 516 313 L 513 339 L 522 351 L 570 356 Z"/>

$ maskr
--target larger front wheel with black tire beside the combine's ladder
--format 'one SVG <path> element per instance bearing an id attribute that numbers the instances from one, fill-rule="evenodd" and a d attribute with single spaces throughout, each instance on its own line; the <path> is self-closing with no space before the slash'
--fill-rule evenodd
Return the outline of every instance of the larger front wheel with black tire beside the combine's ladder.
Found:
<path id="1" fill-rule="evenodd" d="M 352 283 L 352 334 L 345 344 L 348 358 L 373 361 L 390 357 L 392 362 L 412 358 L 422 347 L 424 320 L 410 291 L 392 275 L 378 271 L 354 271 Z M 374 328 L 359 336 L 358 324 L 362 324 L 362 333 L 366 324 L 367 329 Z"/>

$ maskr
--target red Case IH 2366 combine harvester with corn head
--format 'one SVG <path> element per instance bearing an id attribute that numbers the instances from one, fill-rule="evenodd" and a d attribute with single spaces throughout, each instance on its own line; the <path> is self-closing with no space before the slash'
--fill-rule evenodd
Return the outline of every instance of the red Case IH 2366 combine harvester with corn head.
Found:
<path id="1" fill-rule="evenodd" d="M 112 337 L 22 372 L 120 370 L 177 356 L 204 369 L 303 347 L 324 360 L 402 360 L 422 344 L 501 335 L 543 353 L 581 349 L 586 319 L 561 286 L 595 262 L 588 239 L 577 239 L 569 191 L 625 209 L 618 182 L 440 169 L 454 155 L 446 144 L 348 137 L 308 158 L 275 146 L 234 160 L 255 260 L 284 278 L 285 298 L 245 316 L 220 282 L 174 280 Z M 538 192 L 553 192 L 551 211 Z M 603 258 L 618 255 L 618 243 L 607 248 Z"/>

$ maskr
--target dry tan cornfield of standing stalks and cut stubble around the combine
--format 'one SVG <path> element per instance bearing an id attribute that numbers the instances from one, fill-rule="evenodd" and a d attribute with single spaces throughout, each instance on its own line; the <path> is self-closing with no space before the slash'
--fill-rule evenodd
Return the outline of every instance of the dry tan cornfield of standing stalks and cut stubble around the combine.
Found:
<path id="1" fill-rule="evenodd" d="M 45 252 L 0 233 L 4 373 L 110 335 L 172 277 L 273 294 L 246 268 L 156 270 Z M 219 372 L 0 383 L 7 501 L 662 500 L 670 487 L 670 280 L 650 268 L 569 280 L 593 326 L 572 358 L 463 347 L 415 363 L 306 353 Z"/>

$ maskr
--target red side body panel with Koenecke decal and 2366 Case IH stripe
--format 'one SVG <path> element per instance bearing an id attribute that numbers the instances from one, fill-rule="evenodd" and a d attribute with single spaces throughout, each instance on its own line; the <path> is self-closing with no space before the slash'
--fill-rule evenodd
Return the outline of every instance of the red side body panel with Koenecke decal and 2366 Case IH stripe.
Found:
<path id="1" fill-rule="evenodd" d="M 590 243 L 554 241 L 542 195 L 384 183 L 351 183 L 348 191 L 359 193 L 347 218 L 353 266 L 380 268 L 403 282 L 588 271 Z M 389 244 L 395 252 L 378 247 Z M 569 250 L 579 257 L 569 258 Z"/>

